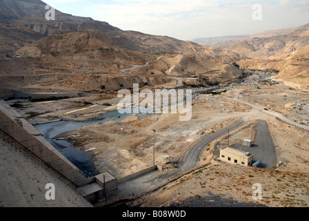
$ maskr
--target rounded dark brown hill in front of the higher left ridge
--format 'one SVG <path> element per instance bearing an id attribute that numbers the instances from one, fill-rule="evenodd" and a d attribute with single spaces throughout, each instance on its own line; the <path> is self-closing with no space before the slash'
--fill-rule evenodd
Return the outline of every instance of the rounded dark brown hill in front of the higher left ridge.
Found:
<path id="1" fill-rule="evenodd" d="M 17 50 L 20 59 L 0 62 L 0 86 L 27 91 L 83 90 L 106 92 L 133 84 L 158 85 L 170 79 L 151 75 L 125 75 L 126 64 L 157 59 L 120 48 L 99 30 L 66 32 L 44 37 Z"/>

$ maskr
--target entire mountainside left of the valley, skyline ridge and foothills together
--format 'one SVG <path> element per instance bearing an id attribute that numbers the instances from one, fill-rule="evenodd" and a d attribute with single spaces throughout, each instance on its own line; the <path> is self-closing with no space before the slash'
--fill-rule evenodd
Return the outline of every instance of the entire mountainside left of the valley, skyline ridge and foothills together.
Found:
<path id="1" fill-rule="evenodd" d="M 236 52 L 201 46 L 172 37 L 124 31 L 103 21 L 75 17 L 56 10 L 55 20 L 45 18 L 43 1 L 0 0 L 0 22 L 5 27 L 28 30 L 6 50 L 22 59 L 1 62 L 0 86 L 107 91 L 132 88 L 133 83 L 157 86 L 170 77 L 200 75 L 207 81 L 239 79 L 232 65 L 246 57 Z M 12 31 L 11 31 L 12 32 Z M 32 33 L 37 33 L 34 37 Z M 14 35 L 11 35 L 14 36 Z M 21 39 L 24 44 L 17 44 Z M 1 42 L 8 46 L 9 40 Z M 14 47 L 13 47 L 14 46 Z M 121 73 L 140 66 L 133 75 Z M 13 76 L 14 75 L 14 76 Z M 211 81 L 210 81 L 211 80 Z M 36 88 L 36 89 L 34 89 Z"/>

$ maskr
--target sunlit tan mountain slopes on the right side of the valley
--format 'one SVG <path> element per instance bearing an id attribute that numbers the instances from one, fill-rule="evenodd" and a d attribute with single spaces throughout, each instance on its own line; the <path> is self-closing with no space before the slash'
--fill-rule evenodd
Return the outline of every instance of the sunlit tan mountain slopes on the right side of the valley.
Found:
<path id="1" fill-rule="evenodd" d="M 309 23 L 226 40 L 212 46 L 248 57 L 237 61 L 241 68 L 276 70 L 292 88 L 309 87 Z"/>

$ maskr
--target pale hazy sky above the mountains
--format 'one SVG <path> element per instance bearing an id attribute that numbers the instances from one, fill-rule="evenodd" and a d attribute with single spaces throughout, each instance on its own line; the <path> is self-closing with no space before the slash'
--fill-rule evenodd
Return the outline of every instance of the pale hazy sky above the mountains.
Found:
<path id="1" fill-rule="evenodd" d="M 181 40 L 250 35 L 309 23 L 309 0 L 43 1 L 61 12 L 106 21 L 122 30 Z M 261 5 L 261 21 L 252 18 L 257 12 L 257 8 L 252 8 L 256 3 Z"/>

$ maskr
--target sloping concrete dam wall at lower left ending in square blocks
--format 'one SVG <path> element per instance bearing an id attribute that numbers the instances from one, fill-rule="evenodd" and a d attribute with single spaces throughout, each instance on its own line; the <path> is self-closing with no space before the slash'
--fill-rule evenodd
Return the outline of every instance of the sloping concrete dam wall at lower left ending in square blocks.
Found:
<path id="1" fill-rule="evenodd" d="M 5 133 L 14 142 L 18 142 L 32 155 L 48 164 L 50 168 L 57 171 L 65 179 L 68 179 L 72 186 L 77 188 L 77 191 L 87 200 L 97 200 L 105 195 L 117 193 L 116 177 L 106 172 L 86 178 L 72 162 L 45 140 L 32 124 L 23 119 L 3 100 L 0 100 L 0 130 L 1 133 Z M 103 175 L 105 183 L 103 183 Z M 104 189 L 104 186 L 106 189 Z"/>

